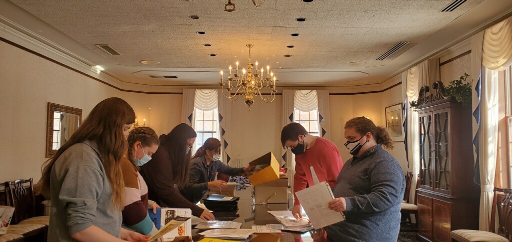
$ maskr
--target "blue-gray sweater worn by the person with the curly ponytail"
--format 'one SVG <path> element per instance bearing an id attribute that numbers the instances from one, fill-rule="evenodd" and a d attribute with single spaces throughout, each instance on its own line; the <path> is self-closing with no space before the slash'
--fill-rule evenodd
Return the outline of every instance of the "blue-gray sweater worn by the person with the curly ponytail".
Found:
<path id="1" fill-rule="evenodd" d="M 346 220 L 325 228 L 329 241 L 395 242 L 406 181 L 402 168 L 377 145 L 343 166 L 334 197 L 347 201 Z"/>

